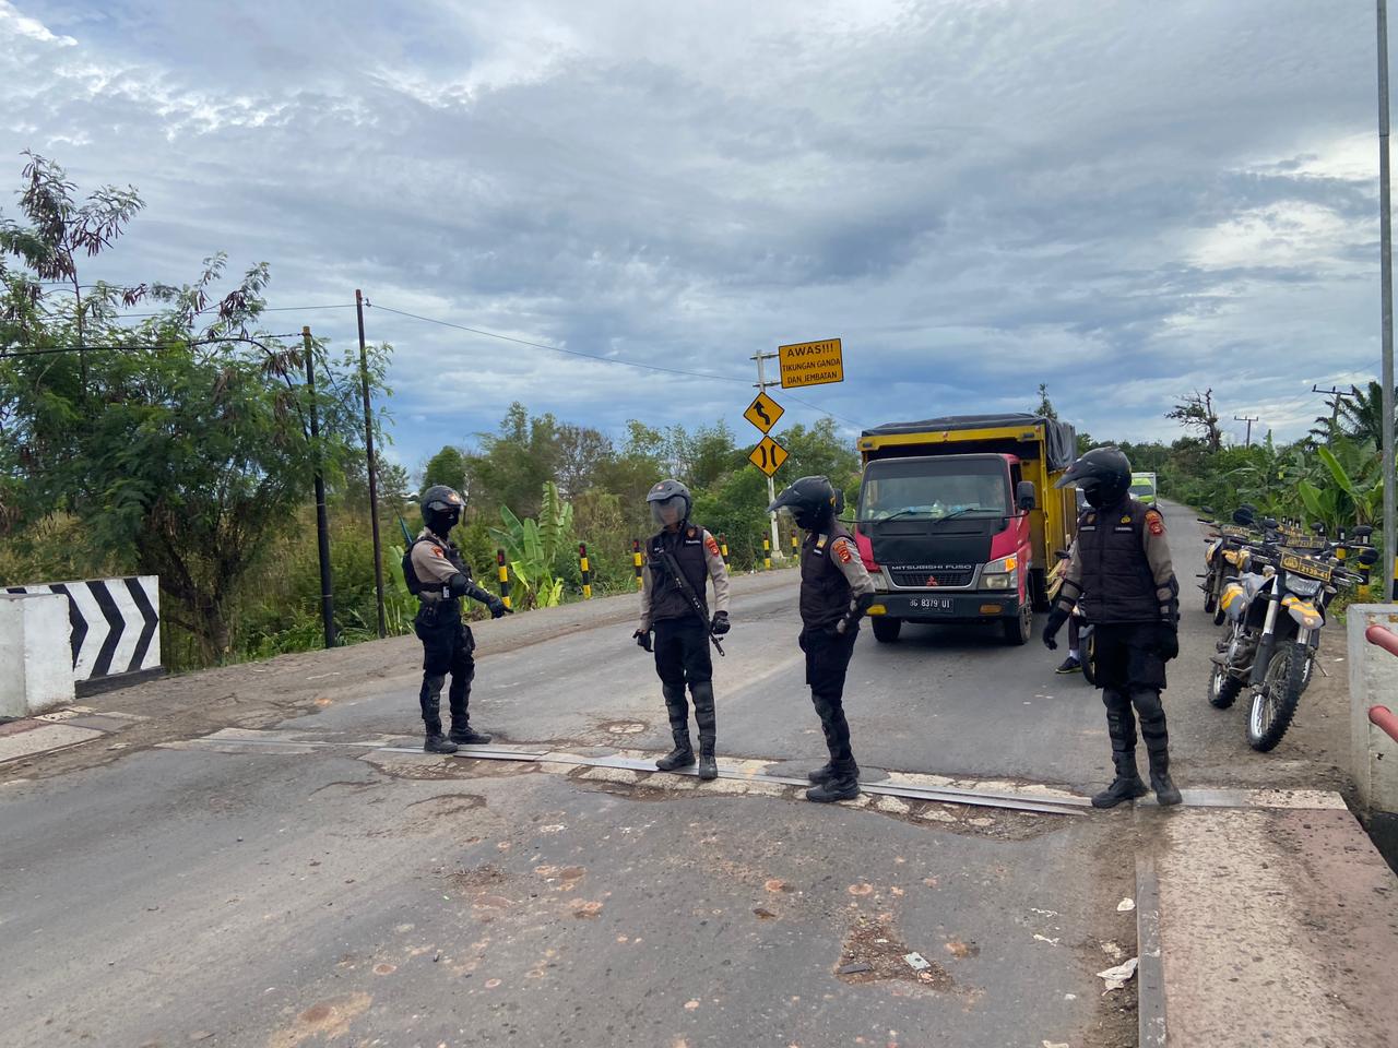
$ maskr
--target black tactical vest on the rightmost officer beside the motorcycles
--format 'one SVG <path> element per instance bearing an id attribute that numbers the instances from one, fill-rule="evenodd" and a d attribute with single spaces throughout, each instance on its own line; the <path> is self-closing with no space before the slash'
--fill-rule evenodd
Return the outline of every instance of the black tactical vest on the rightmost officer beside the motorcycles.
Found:
<path id="1" fill-rule="evenodd" d="M 1082 605 L 1088 622 L 1158 622 L 1160 599 L 1145 559 L 1148 507 L 1125 499 L 1111 509 L 1086 509 L 1078 518 Z"/>

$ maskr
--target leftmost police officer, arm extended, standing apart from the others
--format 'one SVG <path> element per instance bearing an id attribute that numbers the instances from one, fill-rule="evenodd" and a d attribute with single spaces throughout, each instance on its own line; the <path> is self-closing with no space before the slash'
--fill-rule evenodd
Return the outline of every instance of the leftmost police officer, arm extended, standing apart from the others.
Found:
<path id="1" fill-rule="evenodd" d="M 436 483 L 422 493 L 422 523 L 426 525 L 403 555 L 403 577 L 418 598 L 418 615 L 412 622 L 422 641 L 422 724 L 428 753 L 456 753 L 457 743 L 481 745 L 491 741 L 471 729 L 468 706 L 471 679 L 475 676 L 475 639 L 461 622 L 461 598 L 481 601 L 498 619 L 509 608 L 492 592 L 487 592 L 471 578 L 471 569 L 452 542 L 452 528 L 461 520 L 466 503 L 461 495 L 445 483 Z M 452 675 L 447 704 L 452 708 L 452 736 L 442 735 L 442 685 Z"/>

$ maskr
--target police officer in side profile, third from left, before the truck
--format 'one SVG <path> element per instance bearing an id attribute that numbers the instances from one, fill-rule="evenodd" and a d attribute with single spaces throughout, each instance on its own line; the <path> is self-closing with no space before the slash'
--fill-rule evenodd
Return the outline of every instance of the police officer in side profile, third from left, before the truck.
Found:
<path id="1" fill-rule="evenodd" d="M 864 570 L 854 537 L 836 514 L 843 506 L 840 492 L 825 476 L 802 476 L 768 507 L 769 513 L 791 510 L 802 528 L 801 544 L 801 637 L 805 653 L 805 682 L 821 717 L 830 760 L 809 774 L 815 787 L 808 801 L 828 803 L 850 801 L 860 794 L 858 764 L 850 749 L 850 725 L 844 720 L 844 675 L 854 654 L 860 618 L 874 604 L 874 581 Z"/>

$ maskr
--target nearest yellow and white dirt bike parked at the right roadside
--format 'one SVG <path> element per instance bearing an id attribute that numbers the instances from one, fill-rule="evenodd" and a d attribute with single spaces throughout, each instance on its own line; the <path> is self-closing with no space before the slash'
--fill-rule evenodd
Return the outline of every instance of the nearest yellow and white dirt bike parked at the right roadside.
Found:
<path id="1" fill-rule="evenodd" d="M 1331 598 L 1339 587 L 1362 581 L 1341 566 L 1339 551 L 1364 567 L 1378 560 L 1378 552 L 1369 545 L 1327 542 L 1323 535 L 1303 544 L 1271 518 L 1262 527 L 1262 539 L 1244 546 L 1250 570 L 1227 581 L 1219 601 L 1227 630 L 1212 657 L 1208 700 L 1226 710 L 1246 687 L 1247 742 L 1265 753 L 1282 741 L 1311 682 Z M 1355 530 L 1360 544 L 1370 534 L 1373 528 Z"/>

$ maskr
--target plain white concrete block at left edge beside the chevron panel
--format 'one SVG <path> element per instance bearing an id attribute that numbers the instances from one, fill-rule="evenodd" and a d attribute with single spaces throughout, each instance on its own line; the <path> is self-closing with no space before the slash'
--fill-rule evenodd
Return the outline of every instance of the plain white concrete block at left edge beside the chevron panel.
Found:
<path id="1" fill-rule="evenodd" d="M 32 717 L 73 701 L 69 599 L 0 594 L 0 717 Z"/>

